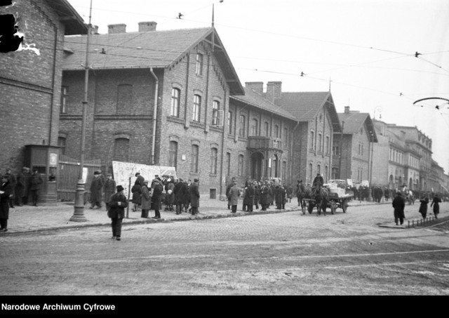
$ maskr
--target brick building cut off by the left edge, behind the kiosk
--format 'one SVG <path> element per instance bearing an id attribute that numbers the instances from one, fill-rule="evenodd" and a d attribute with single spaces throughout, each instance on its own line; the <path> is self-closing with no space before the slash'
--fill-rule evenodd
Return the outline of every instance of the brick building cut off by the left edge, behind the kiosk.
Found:
<path id="1" fill-rule="evenodd" d="M 0 53 L 0 167 L 17 173 L 25 145 L 57 145 L 64 36 L 86 34 L 66 0 L 15 1 L 22 51 Z M 34 44 L 31 45 L 31 44 Z"/>

